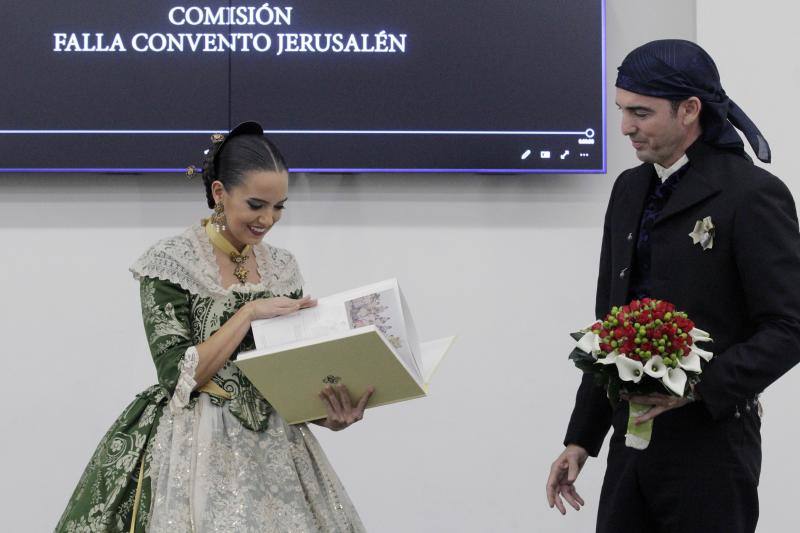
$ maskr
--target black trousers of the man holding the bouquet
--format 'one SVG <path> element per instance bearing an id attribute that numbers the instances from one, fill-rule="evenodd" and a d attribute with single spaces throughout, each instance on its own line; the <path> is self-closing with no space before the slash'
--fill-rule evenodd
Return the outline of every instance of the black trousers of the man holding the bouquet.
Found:
<path id="1" fill-rule="evenodd" d="M 700 403 L 655 419 L 646 450 L 625 446 L 627 405 L 600 494 L 597 533 L 753 533 L 761 420 L 755 407 L 714 422 Z"/>

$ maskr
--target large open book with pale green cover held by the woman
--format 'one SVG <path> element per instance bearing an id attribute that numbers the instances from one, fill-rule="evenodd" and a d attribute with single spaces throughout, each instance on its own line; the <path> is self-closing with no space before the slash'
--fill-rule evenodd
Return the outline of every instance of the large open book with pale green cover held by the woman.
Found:
<path id="1" fill-rule="evenodd" d="M 343 383 L 367 407 L 425 396 L 454 337 L 419 343 L 397 280 L 320 298 L 317 306 L 252 323 L 256 349 L 236 364 L 290 424 L 325 418 L 318 394 Z"/>

